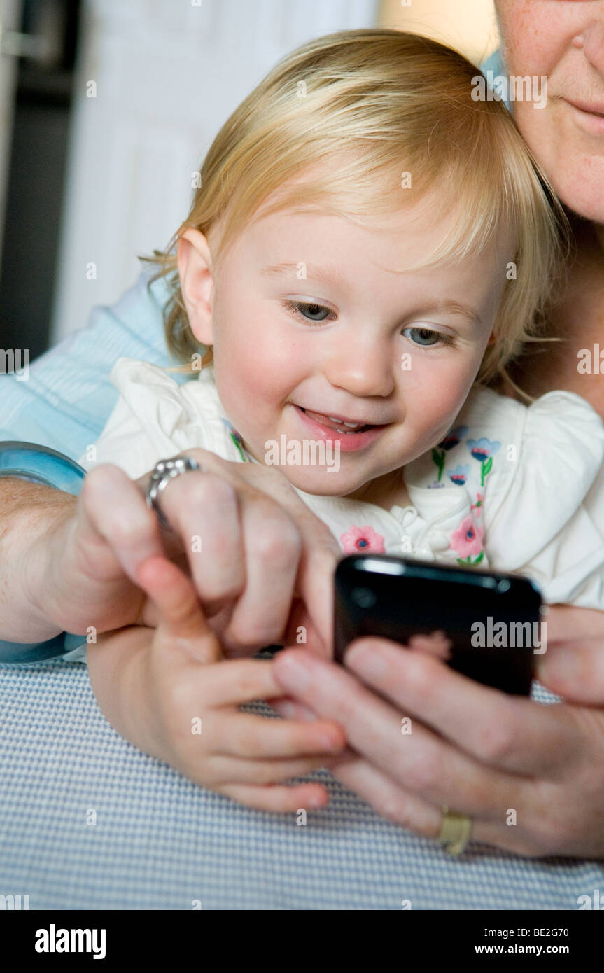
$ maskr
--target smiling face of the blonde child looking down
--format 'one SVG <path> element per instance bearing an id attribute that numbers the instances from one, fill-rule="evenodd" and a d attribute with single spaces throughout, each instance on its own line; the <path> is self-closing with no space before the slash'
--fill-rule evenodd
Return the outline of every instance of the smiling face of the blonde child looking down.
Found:
<path id="1" fill-rule="evenodd" d="M 387 485 L 388 474 L 444 438 L 480 368 L 512 259 L 503 239 L 480 258 L 405 270 L 431 257 L 454 225 L 454 213 L 435 225 L 429 200 L 364 228 L 278 212 L 226 253 L 211 310 L 183 288 L 196 338 L 213 344 L 232 424 L 258 460 L 276 455 L 294 486 L 369 499 L 372 481 Z M 186 259 L 191 281 L 202 257 L 193 246 Z M 350 432 L 319 414 L 377 428 Z M 268 453 L 283 436 L 288 448 L 301 444 L 302 462 L 288 461 L 293 450 Z M 323 464 L 304 463 L 304 440 L 331 440 L 332 457 L 339 444 L 338 472 L 327 450 Z"/>

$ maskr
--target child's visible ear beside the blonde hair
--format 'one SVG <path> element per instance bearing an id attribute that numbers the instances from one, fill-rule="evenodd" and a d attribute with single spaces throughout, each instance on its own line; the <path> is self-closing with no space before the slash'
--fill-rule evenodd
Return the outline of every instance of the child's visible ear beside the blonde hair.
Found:
<path id="1" fill-rule="evenodd" d="M 206 237 L 193 227 L 185 230 L 176 245 L 176 261 L 191 330 L 200 344 L 213 344 L 211 296 L 214 276 Z"/>

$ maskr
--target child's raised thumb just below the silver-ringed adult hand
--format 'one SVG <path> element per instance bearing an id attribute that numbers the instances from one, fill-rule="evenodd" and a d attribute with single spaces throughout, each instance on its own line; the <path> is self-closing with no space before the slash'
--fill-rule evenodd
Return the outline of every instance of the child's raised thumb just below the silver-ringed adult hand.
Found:
<path id="1" fill-rule="evenodd" d="M 176 564 L 164 557 L 146 559 L 136 571 L 136 582 L 159 613 L 157 649 L 165 644 L 173 654 L 181 648 L 201 663 L 222 659 L 220 642 L 205 620 L 193 582 Z"/>

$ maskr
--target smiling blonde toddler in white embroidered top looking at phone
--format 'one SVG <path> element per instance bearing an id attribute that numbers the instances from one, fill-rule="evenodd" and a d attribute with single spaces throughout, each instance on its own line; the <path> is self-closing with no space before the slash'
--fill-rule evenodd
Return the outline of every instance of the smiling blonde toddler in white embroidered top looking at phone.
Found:
<path id="1" fill-rule="evenodd" d="M 551 603 L 604 608 L 604 538 L 583 507 L 601 420 L 569 392 L 527 406 L 485 384 L 543 333 L 563 216 L 505 108 L 473 99 L 476 74 L 425 38 L 346 31 L 285 58 L 236 109 L 176 251 L 151 258 L 172 291 L 168 347 L 195 380 L 117 362 L 120 399 L 64 526 L 83 564 L 90 523 L 117 504 L 106 464 L 142 486 L 162 458 L 203 468 L 211 453 L 276 467 L 344 554 L 517 571 Z M 245 579 L 241 547 L 262 546 L 263 523 L 242 539 L 243 486 L 179 517 L 182 482 L 207 476 L 160 493 L 176 563 L 121 574 L 108 555 L 100 580 L 109 593 L 129 573 L 135 610 L 67 658 L 88 656 L 126 739 L 196 782 L 256 808 L 322 804 L 320 784 L 283 781 L 329 766 L 338 724 L 242 712 L 281 695 L 272 664 L 225 659 L 208 624 L 235 595 L 268 611 L 280 577 L 291 589 L 295 540 L 272 576 Z M 304 634 L 290 619 L 273 640 Z"/>

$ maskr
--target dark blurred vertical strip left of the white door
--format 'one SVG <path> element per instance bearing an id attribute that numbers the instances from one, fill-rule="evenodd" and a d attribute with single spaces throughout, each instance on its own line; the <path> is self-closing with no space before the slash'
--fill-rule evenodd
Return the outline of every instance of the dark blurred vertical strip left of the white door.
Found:
<path id="1" fill-rule="evenodd" d="M 49 346 L 80 0 L 25 0 L 0 267 L 0 346 Z M 23 49 L 27 42 L 24 42 Z M 24 300 L 26 298 L 26 300 Z"/>

